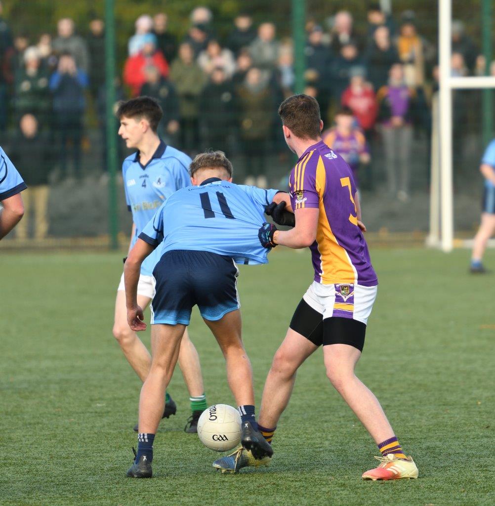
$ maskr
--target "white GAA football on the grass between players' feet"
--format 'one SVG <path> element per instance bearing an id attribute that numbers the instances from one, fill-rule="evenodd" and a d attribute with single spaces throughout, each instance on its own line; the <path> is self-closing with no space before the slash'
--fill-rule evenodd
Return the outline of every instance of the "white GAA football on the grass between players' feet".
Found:
<path id="1" fill-rule="evenodd" d="M 227 404 L 215 404 L 205 409 L 198 420 L 198 436 L 212 450 L 232 450 L 241 441 L 239 411 Z"/>

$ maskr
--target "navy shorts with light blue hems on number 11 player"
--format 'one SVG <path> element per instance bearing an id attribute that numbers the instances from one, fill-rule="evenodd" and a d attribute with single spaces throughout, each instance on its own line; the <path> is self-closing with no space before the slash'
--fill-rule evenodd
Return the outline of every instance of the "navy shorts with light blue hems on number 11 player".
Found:
<path id="1" fill-rule="evenodd" d="M 203 318 L 213 321 L 239 309 L 238 275 L 230 257 L 209 251 L 167 251 L 153 270 L 151 324 L 189 325 L 195 305 Z"/>

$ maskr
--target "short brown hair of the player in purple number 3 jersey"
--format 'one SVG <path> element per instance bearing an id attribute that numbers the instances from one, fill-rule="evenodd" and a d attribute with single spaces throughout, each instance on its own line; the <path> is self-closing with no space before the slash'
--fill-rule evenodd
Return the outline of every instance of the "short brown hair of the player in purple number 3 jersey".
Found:
<path id="1" fill-rule="evenodd" d="M 292 95 L 279 107 L 282 123 L 301 139 L 318 139 L 321 135 L 320 106 L 309 95 Z"/>

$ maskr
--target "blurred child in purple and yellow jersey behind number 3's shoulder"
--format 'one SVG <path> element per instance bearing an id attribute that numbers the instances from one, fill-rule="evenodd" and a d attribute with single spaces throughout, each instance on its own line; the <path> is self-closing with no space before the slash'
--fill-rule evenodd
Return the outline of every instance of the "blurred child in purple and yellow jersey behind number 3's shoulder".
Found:
<path id="1" fill-rule="evenodd" d="M 359 188 L 358 170 L 370 162 L 366 138 L 356 126 L 352 111 L 343 107 L 335 115 L 335 127 L 322 134 L 323 142 L 349 164 L 354 183 Z"/>

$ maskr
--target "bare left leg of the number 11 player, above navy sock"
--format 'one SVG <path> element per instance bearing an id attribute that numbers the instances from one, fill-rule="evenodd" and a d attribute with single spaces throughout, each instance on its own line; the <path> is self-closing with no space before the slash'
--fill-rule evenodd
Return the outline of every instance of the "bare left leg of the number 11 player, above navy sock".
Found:
<path id="1" fill-rule="evenodd" d="M 165 390 L 178 359 L 185 325 L 152 325 L 151 368 L 139 399 L 139 432 L 155 434 L 165 405 Z"/>

